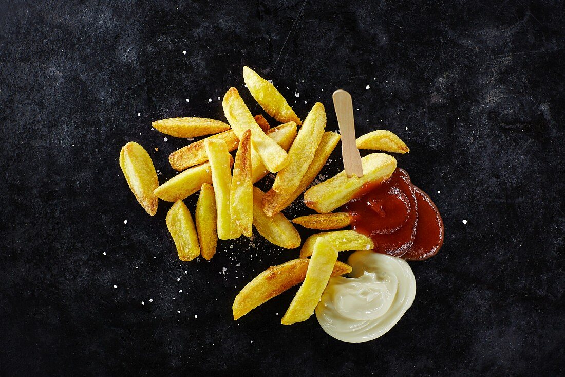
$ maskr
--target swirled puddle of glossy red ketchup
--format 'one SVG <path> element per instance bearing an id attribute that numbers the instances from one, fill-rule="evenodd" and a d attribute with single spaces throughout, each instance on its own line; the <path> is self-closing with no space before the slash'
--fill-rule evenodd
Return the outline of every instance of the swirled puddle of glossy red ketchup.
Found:
<path id="1" fill-rule="evenodd" d="M 387 181 L 363 185 L 341 211 L 349 213 L 355 231 L 371 237 L 377 252 L 424 260 L 444 242 L 436 205 L 403 169 L 394 170 Z"/>

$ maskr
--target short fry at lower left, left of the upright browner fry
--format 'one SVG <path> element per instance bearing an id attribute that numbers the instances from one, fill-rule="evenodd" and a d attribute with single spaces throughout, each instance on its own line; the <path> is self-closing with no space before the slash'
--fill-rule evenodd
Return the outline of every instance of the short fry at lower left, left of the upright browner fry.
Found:
<path id="1" fill-rule="evenodd" d="M 173 236 L 179 259 L 188 262 L 200 255 L 198 235 L 192 216 L 182 200 L 177 200 L 167 213 L 167 228 Z"/>

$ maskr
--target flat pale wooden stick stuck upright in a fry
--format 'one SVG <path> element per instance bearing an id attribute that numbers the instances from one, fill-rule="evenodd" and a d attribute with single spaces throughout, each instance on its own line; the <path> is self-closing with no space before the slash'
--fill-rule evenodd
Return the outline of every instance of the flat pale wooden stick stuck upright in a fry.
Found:
<path id="1" fill-rule="evenodd" d="M 347 174 L 347 177 L 354 174 L 357 177 L 363 177 L 361 156 L 355 143 L 355 122 L 351 95 L 342 89 L 333 92 L 333 106 L 336 109 L 337 124 L 340 126 L 341 154 L 344 158 L 345 174 Z"/>

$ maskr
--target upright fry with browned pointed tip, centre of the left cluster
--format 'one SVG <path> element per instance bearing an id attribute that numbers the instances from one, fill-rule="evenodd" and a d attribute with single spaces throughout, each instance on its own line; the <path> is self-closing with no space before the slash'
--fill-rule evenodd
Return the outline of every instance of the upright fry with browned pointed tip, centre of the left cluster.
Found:
<path id="1" fill-rule="evenodd" d="M 253 233 L 253 183 L 251 182 L 251 130 L 244 132 L 233 164 L 232 185 L 229 188 L 232 221 L 245 235 Z"/>

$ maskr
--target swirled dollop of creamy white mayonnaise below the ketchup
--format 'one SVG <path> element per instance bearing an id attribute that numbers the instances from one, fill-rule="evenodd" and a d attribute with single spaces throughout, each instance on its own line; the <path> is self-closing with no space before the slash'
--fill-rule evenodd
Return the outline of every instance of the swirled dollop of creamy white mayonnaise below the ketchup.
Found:
<path id="1" fill-rule="evenodd" d="M 377 339 L 402 318 L 414 302 L 416 279 L 404 259 L 372 250 L 351 254 L 350 277 L 334 276 L 316 307 L 329 335 L 345 342 Z"/>

